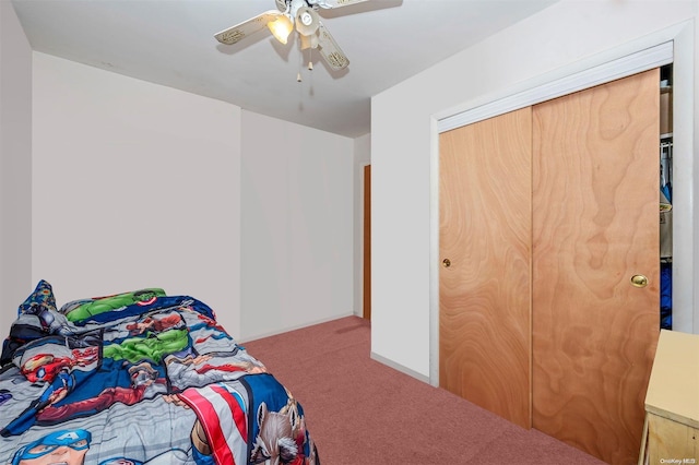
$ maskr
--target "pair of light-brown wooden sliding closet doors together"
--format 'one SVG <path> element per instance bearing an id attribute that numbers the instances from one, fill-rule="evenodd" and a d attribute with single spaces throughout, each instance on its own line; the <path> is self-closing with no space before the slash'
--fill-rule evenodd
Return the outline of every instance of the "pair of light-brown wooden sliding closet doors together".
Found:
<path id="1" fill-rule="evenodd" d="M 440 134 L 439 384 L 638 460 L 660 327 L 660 70 Z"/>

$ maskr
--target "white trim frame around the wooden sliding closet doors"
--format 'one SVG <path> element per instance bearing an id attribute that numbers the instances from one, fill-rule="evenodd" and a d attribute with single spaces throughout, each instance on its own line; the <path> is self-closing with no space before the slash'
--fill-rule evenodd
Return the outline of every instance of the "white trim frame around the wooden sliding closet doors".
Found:
<path id="1" fill-rule="evenodd" d="M 433 116 L 430 151 L 430 384 L 439 385 L 439 134 L 507 111 L 542 103 L 616 79 L 673 63 L 673 158 L 682 167 L 673 175 L 673 243 L 683 253 L 673 260 L 673 329 L 699 334 L 699 242 L 692 231 L 699 220 L 694 182 L 695 40 L 694 23 L 687 21 L 649 34 L 589 60 L 541 75 L 518 88 L 494 96 L 485 104 L 454 108 Z M 660 83 L 659 83 L 660 92 Z M 660 146 L 660 134 L 659 134 Z M 699 183 L 698 183 L 699 184 Z M 660 302 L 659 302 L 660 312 Z"/>

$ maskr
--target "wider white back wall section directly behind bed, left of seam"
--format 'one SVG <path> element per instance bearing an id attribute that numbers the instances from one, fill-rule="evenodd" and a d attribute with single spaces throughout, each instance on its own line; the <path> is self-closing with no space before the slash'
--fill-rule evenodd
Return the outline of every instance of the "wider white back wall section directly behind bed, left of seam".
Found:
<path id="1" fill-rule="evenodd" d="M 163 287 L 237 336 L 240 109 L 35 52 L 33 130 L 33 281 Z"/>

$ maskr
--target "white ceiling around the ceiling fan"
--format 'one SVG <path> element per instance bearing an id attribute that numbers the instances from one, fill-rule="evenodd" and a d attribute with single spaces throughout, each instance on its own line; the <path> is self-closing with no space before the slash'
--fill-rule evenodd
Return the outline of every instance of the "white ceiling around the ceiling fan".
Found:
<path id="1" fill-rule="evenodd" d="M 340 72 L 317 51 L 308 71 L 296 40 L 283 46 L 266 28 L 232 46 L 214 38 L 274 10 L 274 0 L 12 3 L 36 51 L 355 138 L 370 131 L 371 96 L 556 1 L 368 0 L 320 10 L 350 58 Z"/>

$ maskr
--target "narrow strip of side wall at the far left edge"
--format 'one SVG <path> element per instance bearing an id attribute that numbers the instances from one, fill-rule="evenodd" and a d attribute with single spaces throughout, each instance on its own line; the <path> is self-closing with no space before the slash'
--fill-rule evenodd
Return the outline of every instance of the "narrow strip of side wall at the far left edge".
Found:
<path id="1" fill-rule="evenodd" d="M 32 49 L 0 1 L 0 337 L 32 284 Z"/>

